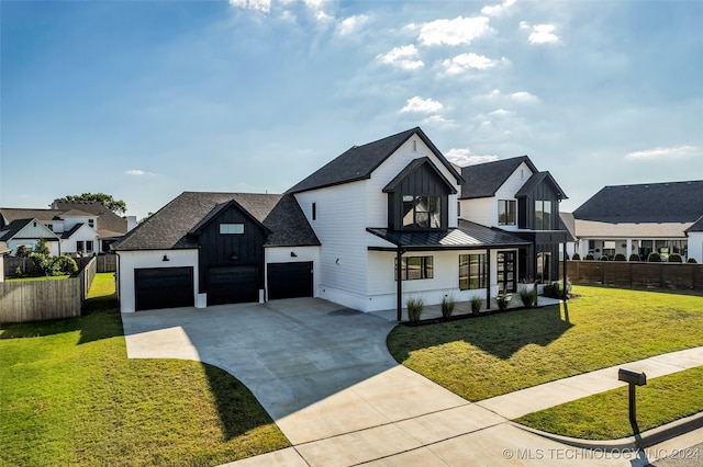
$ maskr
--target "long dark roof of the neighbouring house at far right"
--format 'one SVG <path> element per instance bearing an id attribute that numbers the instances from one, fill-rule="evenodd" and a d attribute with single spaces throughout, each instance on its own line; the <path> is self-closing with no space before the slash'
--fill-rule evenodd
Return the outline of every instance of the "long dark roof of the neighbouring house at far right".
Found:
<path id="1" fill-rule="evenodd" d="M 573 212 L 602 223 L 694 223 L 703 215 L 703 180 L 605 186 Z"/>

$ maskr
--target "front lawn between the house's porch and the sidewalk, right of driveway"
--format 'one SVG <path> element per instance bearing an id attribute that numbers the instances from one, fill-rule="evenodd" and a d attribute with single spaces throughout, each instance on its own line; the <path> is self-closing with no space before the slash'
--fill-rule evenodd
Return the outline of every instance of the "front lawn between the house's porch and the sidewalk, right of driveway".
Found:
<path id="1" fill-rule="evenodd" d="M 565 305 L 432 326 L 398 326 L 398 362 L 481 400 L 703 345 L 703 297 L 577 286 Z"/>

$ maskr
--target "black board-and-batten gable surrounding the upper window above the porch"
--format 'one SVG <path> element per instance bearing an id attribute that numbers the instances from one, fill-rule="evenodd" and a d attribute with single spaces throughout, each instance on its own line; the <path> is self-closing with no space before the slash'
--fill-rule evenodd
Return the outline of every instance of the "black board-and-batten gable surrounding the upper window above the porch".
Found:
<path id="1" fill-rule="evenodd" d="M 449 226 L 449 194 L 457 190 L 437 170 L 429 158 L 410 162 L 386 187 L 388 193 L 388 226 L 391 230 L 403 230 L 403 195 L 439 196 L 442 230 Z"/>

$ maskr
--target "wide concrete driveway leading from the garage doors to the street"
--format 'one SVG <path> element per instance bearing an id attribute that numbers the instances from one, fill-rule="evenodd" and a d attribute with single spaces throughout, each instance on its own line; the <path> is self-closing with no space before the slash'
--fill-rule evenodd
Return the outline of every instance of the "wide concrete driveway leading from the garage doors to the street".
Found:
<path id="1" fill-rule="evenodd" d="M 563 445 L 399 365 L 386 346 L 395 324 L 373 315 L 304 298 L 123 314 L 122 321 L 129 357 L 227 371 L 293 444 L 237 466 L 544 465 L 544 453 L 563 453 Z"/>

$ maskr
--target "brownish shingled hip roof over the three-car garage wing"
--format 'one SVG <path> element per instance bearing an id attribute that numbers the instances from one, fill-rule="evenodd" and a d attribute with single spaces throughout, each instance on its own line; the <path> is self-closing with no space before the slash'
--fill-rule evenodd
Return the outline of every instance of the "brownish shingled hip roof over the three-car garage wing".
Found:
<path id="1" fill-rule="evenodd" d="M 130 231 L 115 250 L 168 250 L 198 248 L 190 235 L 213 210 L 236 202 L 271 234 L 267 247 L 319 246 L 320 240 L 292 195 L 183 192 Z M 205 220 L 207 221 L 207 220 Z"/>

